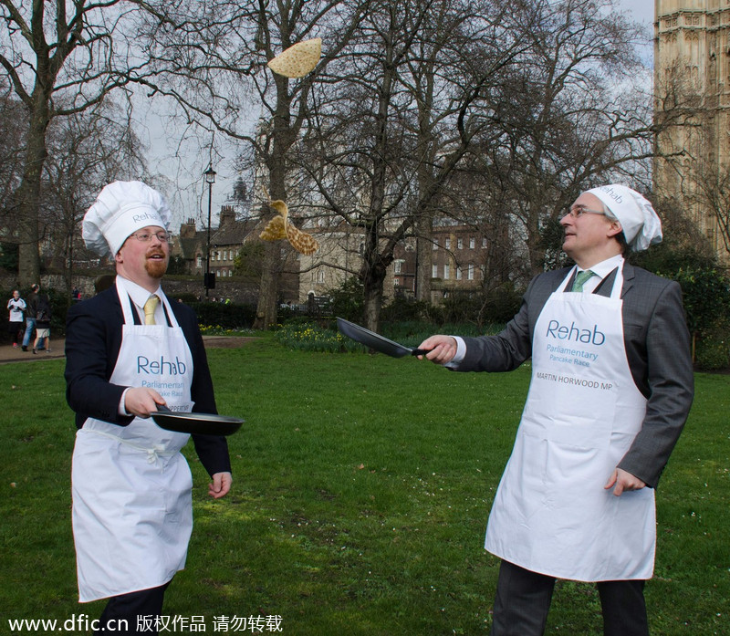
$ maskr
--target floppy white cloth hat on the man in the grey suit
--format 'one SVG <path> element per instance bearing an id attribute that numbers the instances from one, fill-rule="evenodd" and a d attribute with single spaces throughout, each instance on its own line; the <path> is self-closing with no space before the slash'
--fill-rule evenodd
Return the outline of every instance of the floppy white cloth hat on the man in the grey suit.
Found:
<path id="1" fill-rule="evenodd" d="M 601 185 L 586 192 L 597 196 L 619 219 L 626 243 L 632 250 L 640 252 L 649 245 L 662 242 L 662 221 L 654 212 L 652 203 L 640 193 L 620 183 Z"/>

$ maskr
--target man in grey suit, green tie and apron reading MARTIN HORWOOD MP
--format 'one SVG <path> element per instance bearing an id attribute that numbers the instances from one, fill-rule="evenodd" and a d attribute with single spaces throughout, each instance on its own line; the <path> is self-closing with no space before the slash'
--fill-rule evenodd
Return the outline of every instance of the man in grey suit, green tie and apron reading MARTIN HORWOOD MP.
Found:
<path id="1" fill-rule="evenodd" d="M 504 331 L 432 336 L 420 349 L 459 371 L 532 359 L 486 531 L 502 559 L 493 636 L 544 633 L 556 579 L 597 583 L 606 636 L 646 636 L 654 489 L 694 395 L 682 294 L 624 259 L 662 240 L 640 193 L 594 188 L 560 224 L 576 266 L 536 276 Z"/>

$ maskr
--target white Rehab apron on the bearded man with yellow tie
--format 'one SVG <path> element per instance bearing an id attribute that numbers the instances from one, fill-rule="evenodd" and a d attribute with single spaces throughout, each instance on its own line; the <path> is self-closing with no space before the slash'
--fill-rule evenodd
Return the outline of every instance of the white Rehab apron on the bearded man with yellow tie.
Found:
<path id="1" fill-rule="evenodd" d="M 193 357 L 161 294 L 172 326 L 135 325 L 130 297 L 110 382 L 158 391 L 173 411 L 193 408 Z M 189 435 L 151 419 L 118 426 L 89 418 L 79 429 L 71 470 L 80 602 L 160 586 L 183 569 L 193 529 L 193 479 L 180 449 Z"/>

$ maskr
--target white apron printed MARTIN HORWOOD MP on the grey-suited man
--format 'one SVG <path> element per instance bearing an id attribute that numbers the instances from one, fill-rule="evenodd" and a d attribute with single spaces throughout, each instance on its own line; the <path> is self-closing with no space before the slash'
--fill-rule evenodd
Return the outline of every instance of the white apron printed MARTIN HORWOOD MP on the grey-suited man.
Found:
<path id="1" fill-rule="evenodd" d="M 489 552 L 558 579 L 652 577 L 653 489 L 617 497 L 603 487 L 646 412 L 624 348 L 622 285 L 619 268 L 610 297 L 563 293 L 564 281 L 548 298 L 515 447 L 489 515 Z"/>

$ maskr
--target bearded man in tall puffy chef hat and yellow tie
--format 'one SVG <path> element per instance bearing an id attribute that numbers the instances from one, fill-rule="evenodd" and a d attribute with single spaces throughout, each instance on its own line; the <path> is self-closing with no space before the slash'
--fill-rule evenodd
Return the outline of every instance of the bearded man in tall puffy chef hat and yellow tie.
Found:
<path id="1" fill-rule="evenodd" d="M 170 215 L 144 183 L 113 182 L 84 217 L 87 246 L 117 271 L 112 287 L 69 309 L 66 339 L 79 600 L 110 599 L 97 633 L 156 632 L 164 590 L 185 564 L 193 484 L 180 450 L 189 435 L 163 430 L 151 413 L 216 412 L 195 314 L 160 286 Z M 209 494 L 226 495 L 225 438 L 193 435 L 193 443 L 212 477 Z"/>

